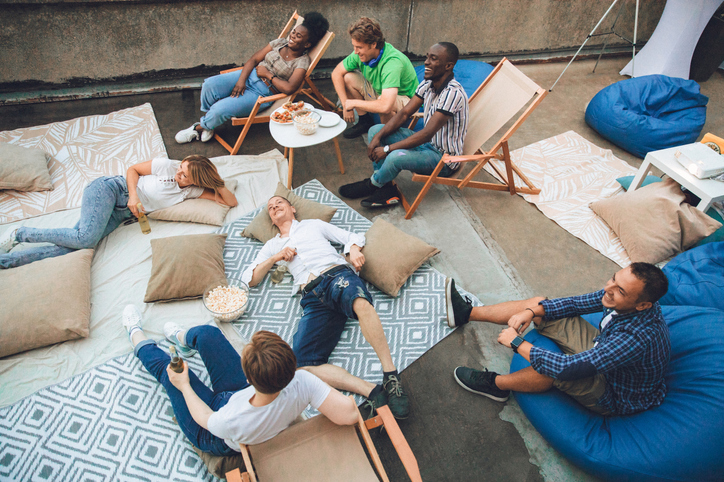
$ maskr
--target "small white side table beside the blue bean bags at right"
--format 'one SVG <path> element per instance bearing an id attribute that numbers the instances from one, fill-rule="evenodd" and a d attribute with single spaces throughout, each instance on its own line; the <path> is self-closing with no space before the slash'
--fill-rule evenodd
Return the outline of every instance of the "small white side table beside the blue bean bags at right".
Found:
<path id="1" fill-rule="evenodd" d="M 649 167 L 655 166 L 701 199 L 699 205 L 696 206 L 698 210 L 706 212 L 713 202 L 724 201 L 724 182 L 714 181 L 712 179 L 699 179 L 690 174 L 674 157 L 674 153 L 677 150 L 681 151 L 684 155 L 688 155 L 687 153 L 692 153 L 692 144 L 670 147 L 646 154 L 643 164 L 641 164 L 633 182 L 631 182 L 629 191 L 639 188 Z M 688 156 L 690 158 L 695 157 L 693 153 Z"/>

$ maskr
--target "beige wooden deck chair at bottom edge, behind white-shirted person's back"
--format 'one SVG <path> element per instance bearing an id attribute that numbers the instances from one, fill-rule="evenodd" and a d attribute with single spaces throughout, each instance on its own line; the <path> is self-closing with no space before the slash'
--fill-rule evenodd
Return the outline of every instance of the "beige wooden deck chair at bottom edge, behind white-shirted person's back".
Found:
<path id="1" fill-rule="evenodd" d="M 292 425 L 262 444 L 241 445 L 246 472 L 242 474 L 239 469 L 227 472 L 226 480 L 389 482 L 368 432 L 384 426 L 410 480 L 422 481 L 415 455 L 387 406 L 378 408 L 377 416 L 370 420 L 362 420 L 359 412 L 357 417 L 356 425 L 336 425 L 319 415 Z M 360 443 L 358 431 L 367 453 Z"/>

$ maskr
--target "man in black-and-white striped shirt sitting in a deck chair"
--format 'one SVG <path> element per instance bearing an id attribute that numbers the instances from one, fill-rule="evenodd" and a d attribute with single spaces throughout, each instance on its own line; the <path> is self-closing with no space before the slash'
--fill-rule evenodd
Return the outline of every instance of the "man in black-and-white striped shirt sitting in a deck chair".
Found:
<path id="1" fill-rule="evenodd" d="M 392 180 L 402 170 L 432 174 L 443 154 L 459 156 L 468 129 L 468 98 L 453 75 L 458 48 L 440 42 L 428 49 L 425 80 L 415 96 L 386 124 L 372 126 L 367 155 L 374 163 L 374 174 L 362 181 L 344 185 L 339 194 L 349 199 L 363 199 L 363 207 L 390 206 L 400 202 Z M 425 127 L 419 132 L 403 128 L 410 116 L 424 104 Z M 447 177 L 458 163 L 446 164 L 440 175 Z"/>

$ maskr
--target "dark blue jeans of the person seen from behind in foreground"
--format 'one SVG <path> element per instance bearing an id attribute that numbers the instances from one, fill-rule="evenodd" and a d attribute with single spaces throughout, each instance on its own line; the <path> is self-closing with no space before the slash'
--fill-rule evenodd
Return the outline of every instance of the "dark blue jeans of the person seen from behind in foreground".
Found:
<path id="1" fill-rule="evenodd" d="M 231 396 L 249 386 L 244 371 L 241 369 L 241 358 L 226 340 L 221 330 L 215 326 L 196 326 L 186 332 L 186 344 L 198 350 L 201 360 L 206 365 L 211 379 L 211 389 L 189 370 L 189 381 L 196 395 L 217 411 L 229 402 Z M 171 400 L 173 413 L 181 431 L 186 438 L 202 452 L 214 455 L 232 455 L 238 453 L 227 443 L 201 427 L 194 421 L 186 400 L 181 392 L 168 379 L 166 367 L 171 357 L 161 350 L 153 340 L 144 340 L 136 345 L 135 355 L 141 360 L 146 370 L 153 375 L 166 389 Z"/>

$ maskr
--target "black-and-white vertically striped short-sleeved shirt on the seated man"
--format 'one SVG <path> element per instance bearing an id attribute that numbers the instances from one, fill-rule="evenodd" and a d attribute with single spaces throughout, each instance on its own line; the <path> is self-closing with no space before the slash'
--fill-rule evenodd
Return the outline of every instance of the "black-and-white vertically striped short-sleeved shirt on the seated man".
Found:
<path id="1" fill-rule="evenodd" d="M 460 156 L 463 153 L 463 142 L 468 131 L 468 96 L 460 82 L 451 75 L 436 92 L 432 80 L 423 81 L 415 95 L 425 104 L 424 120 L 427 124 L 435 112 L 442 112 L 450 119 L 432 136 L 430 144 L 442 153 Z M 456 169 L 459 163 L 448 164 Z"/>

